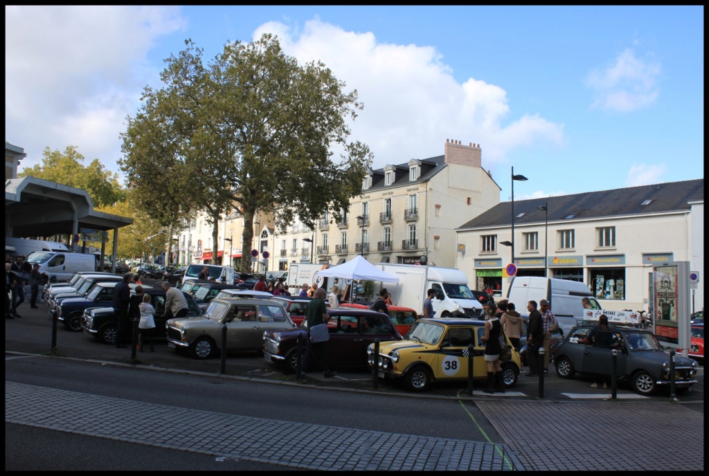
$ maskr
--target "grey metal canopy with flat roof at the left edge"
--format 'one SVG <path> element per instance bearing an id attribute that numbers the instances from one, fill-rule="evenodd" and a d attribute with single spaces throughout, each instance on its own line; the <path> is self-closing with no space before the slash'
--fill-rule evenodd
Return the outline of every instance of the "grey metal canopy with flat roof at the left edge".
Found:
<path id="1" fill-rule="evenodd" d="M 73 235 L 82 228 L 117 231 L 132 224 L 132 218 L 94 210 L 80 188 L 30 176 L 5 181 L 6 237 Z"/>

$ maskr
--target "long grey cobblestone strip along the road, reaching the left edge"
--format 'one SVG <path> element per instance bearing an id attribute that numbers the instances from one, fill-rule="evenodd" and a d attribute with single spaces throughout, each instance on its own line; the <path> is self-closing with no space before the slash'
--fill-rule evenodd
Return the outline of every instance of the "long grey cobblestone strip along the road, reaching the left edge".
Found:
<path id="1" fill-rule="evenodd" d="M 506 445 L 203 412 L 15 382 L 5 382 L 5 421 L 309 470 L 524 469 Z"/>

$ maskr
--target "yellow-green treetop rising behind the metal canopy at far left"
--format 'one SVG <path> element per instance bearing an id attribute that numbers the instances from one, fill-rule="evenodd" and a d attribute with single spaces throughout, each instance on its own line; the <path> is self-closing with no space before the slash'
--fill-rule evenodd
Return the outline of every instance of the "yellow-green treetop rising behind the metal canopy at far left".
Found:
<path id="1" fill-rule="evenodd" d="M 81 188 L 89 193 L 94 205 L 109 205 L 124 199 L 118 174 L 111 174 L 99 159 L 84 166 L 84 156 L 77 152 L 77 147 L 70 145 L 64 153 L 52 152 L 45 147 L 41 164 L 24 169 L 18 176 L 32 176 L 74 188 Z"/>

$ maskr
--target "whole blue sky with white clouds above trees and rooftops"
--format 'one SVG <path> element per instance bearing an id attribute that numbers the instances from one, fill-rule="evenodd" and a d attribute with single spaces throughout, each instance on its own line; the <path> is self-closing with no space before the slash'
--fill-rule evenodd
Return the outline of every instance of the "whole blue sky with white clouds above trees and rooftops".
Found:
<path id="1" fill-rule="evenodd" d="M 479 144 L 515 199 L 704 176 L 703 6 L 6 6 L 5 139 L 112 171 L 125 117 L 191 38 L 274 33 L 357 89 L 374 168 Z M 337 152 L 337 151 L 335 151 Z"/>

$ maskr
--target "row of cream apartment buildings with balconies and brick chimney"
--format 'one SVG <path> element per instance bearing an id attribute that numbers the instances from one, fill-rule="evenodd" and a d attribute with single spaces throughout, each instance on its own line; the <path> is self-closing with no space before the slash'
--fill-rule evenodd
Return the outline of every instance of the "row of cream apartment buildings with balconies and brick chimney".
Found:
<path id="1" fill-rule="evenodd" d="M 357 254 L 371 263 L 452 267 L 456 228 L 497 205 L 500 191 L 482 168 L 479 145 L 446 140 L 440 156 L 369 171 L 362 180 L 362 196 L 352 199 L 339 221 L 330 211 L 318 220 L 316 229 L 298 220 L 275 229 L 269 217 L 259 217 L 252 245 L 259 253 L 256 267 L 285 271 L 291 263 L 337 264 Z M 240 258 L 242 229 L 240 216 L 226 217 L 220 222 L 218 243 L 213 244 L 211 225 L 198 215 L 179 237 L 180 261 L 201 263 L 211 259 L 214 250 L 223 262 L 228 262 L 224 256 Z"/>

